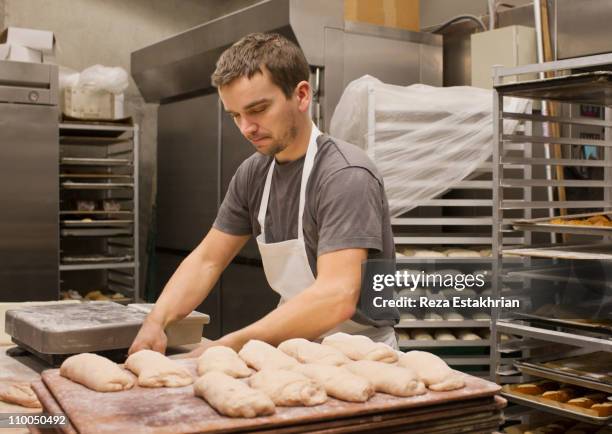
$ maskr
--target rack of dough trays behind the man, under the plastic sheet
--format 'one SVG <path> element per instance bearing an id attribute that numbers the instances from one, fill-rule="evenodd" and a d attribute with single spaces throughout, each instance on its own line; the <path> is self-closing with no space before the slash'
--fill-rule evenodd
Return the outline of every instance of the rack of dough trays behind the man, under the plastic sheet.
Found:
<path id="1" fill-rule="evenodd" d="M 376 107 L 374 89 L 370 89 L 368 95 L 367 137 L 368 148 L 372 148 L 376 145 L 377 137 L 399 136 L 409 126 L 397 118 L 397 111 L 387 113 L 384 108 Z M 466 101 L 466 104 L 469 102 Z M 521 143 L 512 146 L 516 155 L 522 157 L 524 146 Z M 420 203 L 398 218 L 392 218 L 398 268 L 427 273 L 456 273 L 457 269 L 466 273 L 483 272 L 488 280 L 485 292 L 472 296 L 491 294 L 492 190 L 492 163 L 489 159 L 464 180 L 449 186 L 444 194 Z M 513 245 L 523 242 L 522 236 L 506 239 L 506 243 Z M 435 257 L 428 257 L 423 252 L 418 252 L 417 256 L 406 256 L 407 249 L 429 251 Z M 440 255 L 441 251 L 448 249 L 459 251 L 453 257 Z M 462 255 L 462 251 L 466 255 Z M 483 252 L 483 256 L 475 252 Z M 419 256 L 421 254 L 423 256 Z M 436 289 L 423 291 L 431 298 L 441 296 L 441 291 Z M 405 294 L 399 291 L 397 295 Z M 488 377 L 491 362 L 490 311 L 478 312 L 477 317 L 473 313 L 467 309 L 450 313 L 448 309 L 424 311 L 400 308 L 401 319 L 396 325 L 398 345 L 402 351 L 422 349 L 434 352 L 457 370 Z M 449 318 L 446 316 L 448 314 L 454 317 Z"/>

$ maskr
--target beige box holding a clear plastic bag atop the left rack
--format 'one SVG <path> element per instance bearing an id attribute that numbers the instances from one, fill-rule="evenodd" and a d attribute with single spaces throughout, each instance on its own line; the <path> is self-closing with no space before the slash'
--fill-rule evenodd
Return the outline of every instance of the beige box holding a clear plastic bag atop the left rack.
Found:
<path id="1" fill-rule="evenodd" d="M 121 119 L 124 117 L 123 101 L 123 94 L 67 87 L 62 98 L 62 113 L 78 119 Z"/>

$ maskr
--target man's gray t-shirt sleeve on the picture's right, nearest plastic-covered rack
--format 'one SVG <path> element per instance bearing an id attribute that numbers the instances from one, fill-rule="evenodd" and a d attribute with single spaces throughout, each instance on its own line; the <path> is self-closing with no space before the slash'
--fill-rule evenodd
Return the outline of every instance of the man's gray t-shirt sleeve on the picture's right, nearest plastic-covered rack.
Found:
<path id="1" fill-rule="evenodd" d="M 382 186 L 368 170 L 334 173 L 321 186 L 317 204 L 317 256 L 350 248 L 382 251 Z"/>

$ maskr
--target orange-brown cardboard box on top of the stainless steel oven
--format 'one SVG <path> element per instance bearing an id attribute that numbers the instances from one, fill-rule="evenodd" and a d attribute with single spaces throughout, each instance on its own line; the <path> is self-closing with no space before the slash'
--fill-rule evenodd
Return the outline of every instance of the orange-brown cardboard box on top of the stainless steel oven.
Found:
<path id="1" fill-rule="evenodd" d="M 418 32 L 419 0 L 344 0 L 344 19 Z"/>

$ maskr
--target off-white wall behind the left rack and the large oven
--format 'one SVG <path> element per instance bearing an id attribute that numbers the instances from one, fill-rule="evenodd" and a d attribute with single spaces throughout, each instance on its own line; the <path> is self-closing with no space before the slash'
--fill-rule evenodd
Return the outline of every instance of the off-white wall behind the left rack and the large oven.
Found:
<path id="1" fill-rule="evenodd" d="M 0 0 L 0 29 L 52 30 L 60 65 L 82 70 L 100 63 L 129 71 L 130 53 L 255 0 Z M 131 81 L 127 113 L 141 126 L 141 288 L 156 185 L 157 105 L 145 104 Z"/>

